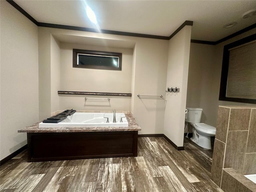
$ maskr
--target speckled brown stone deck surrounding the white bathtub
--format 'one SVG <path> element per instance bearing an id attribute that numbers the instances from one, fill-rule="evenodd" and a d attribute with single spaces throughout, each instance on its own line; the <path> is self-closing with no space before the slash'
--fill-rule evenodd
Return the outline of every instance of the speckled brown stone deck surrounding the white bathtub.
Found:
<path id="1" fill-rule="evenodd" d="M 50 127 L 39 128 L 38 123 L 18 130 L 19 133 L 44 133 L 44 132 L 110 132 L 110 131 L 140 131 L 141 128 L 131 114 L 125 114 L 128 127 Z"/>

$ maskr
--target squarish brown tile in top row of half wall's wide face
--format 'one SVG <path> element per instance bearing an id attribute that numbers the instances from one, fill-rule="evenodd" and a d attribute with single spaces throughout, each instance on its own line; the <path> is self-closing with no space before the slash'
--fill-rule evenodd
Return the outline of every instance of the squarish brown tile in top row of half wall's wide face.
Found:
<path id="1" fill-rule="evenodd" d="M 251 109 L 231 109 L 228 130 L 248 130 L 250 114 Z"/>

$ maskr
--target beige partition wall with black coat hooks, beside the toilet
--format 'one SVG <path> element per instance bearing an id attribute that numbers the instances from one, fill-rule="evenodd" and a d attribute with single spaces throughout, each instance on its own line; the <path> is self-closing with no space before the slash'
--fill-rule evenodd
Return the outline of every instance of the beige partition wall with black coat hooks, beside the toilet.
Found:
<path id="1" fill-rule="evenodd" d="M 166 87 L 180 92 L 166 93 L 164 134 L 177 146 L 183 146 L 190 39 L 191 26 L 185 26 L 169 42 Z"/>

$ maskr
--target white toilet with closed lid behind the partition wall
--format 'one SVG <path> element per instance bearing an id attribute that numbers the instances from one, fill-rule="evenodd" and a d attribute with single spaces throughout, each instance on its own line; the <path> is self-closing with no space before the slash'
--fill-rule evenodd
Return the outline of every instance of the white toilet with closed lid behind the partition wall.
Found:
<path id="1" fill-rule="evenodd" d="M 216 128 L 205 123 L 201 123 L 202 108 L 186 108 L 185 121 L 192 126 L 193 136 L 190 138 L 194 143 L 205 149 L 211 149 L 211 137 L 215 136 Z"/>

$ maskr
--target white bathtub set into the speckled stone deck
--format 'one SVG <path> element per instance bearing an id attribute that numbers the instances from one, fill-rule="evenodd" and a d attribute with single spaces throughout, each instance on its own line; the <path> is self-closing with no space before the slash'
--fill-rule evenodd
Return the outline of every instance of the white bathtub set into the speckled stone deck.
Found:
<path id="1" fill-rule="evenodd" d="M 124 113 L 116 113 L 116 123 L 113 123 L 113 113 L 74 113 L 59 123 L 39 123 L 39 127 L 128 127 Z M 109 122 L 107 123 L 107 118 Z"/>

